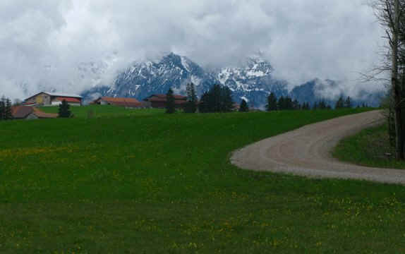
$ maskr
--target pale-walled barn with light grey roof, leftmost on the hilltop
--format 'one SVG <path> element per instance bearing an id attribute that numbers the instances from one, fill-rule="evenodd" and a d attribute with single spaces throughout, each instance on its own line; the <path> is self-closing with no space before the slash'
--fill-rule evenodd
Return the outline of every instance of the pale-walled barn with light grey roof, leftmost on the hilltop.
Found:
<path id="1" fill-rule="evenodd" d="M 82 99 L 80 95 L 68 95 L 57 92 L 40 92 L 25 99 L 26 106 L 58 106 L 63 100 L 71 106 L 81 106 Z"/>

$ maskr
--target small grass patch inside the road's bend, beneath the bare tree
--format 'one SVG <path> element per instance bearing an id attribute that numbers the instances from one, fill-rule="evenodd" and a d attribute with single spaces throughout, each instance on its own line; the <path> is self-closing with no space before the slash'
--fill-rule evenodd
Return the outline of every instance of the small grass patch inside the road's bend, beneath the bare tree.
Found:
<path id="1" fill-rule="evenodd" d="M 368 167 L 405 169 L 405 162 L 395 159 L 395 148 L 389 145 L 386 124 L 344 138 L 334 149 L 333 156 Z"/>

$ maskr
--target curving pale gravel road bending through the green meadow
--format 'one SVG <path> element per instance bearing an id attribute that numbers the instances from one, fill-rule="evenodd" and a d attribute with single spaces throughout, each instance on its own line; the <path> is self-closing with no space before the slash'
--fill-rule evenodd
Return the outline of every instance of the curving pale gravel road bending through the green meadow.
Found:
<path id="1" fill-rule="evenodd" d="M 361 167 L 332 158 L 341 138 L 381 123 L 381 111 L 342 116 L 313 123 L 237 150 L 231 163 L 242 169 L 317 178 L 364 179 L 405 183 L 405 170 Z"/>

